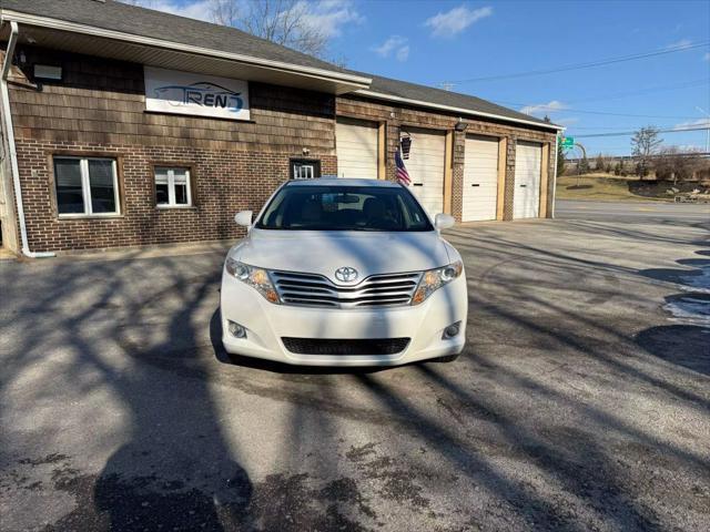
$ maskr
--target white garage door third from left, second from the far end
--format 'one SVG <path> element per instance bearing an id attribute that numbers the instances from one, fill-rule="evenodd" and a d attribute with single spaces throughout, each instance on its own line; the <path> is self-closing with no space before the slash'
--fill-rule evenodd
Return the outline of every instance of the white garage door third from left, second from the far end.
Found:
<path id="1" fill-rule="evenodd" d="M 462 219 L 496 219 L 498 139 L 466 136 Z"/>

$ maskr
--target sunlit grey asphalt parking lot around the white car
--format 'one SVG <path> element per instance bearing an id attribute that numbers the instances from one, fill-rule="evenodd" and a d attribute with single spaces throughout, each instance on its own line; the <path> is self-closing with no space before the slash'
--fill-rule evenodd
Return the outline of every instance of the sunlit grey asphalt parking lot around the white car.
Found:
<path id="1" fill-rule="evenodd" d="M 449 232 L 465 354 L 377 371 L 230 364 L 221 249 L 1 262 L 2 530 L 708 530 L 710 226 L 572 218 Z"/>

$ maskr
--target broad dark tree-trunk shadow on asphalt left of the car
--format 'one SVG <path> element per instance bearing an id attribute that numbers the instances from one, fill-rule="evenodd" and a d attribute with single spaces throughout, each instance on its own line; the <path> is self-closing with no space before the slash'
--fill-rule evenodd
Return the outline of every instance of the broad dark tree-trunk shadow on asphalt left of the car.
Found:
<path id="1" fill-rule="evenodd" d="M 129 309 L 131 318 L 116 334 L 136 368 L 160 357 L 170 358 L 173 370 L 189 367 L 206 372 L 205 360 L 193 349 L 203 338 L 195 330 L 201 321 L 194 318 L 217 280 L 215 275 L 178 279 Z M 170 315 L 166 340 L 145 348 L 152 328 L 143 325 L 164 308 L 178 308 Z M 134 430 L 95 484 L 97 508 L 109 515 L 111 530 L 223 530 L 225 525 L 242 530 L 248 525 L 252 482 L 222 434 L 207 385 L 204 378 L 189 379 L 178 396 L 175 388 L 155 382 L 150 371 L 115 381 Z"/>

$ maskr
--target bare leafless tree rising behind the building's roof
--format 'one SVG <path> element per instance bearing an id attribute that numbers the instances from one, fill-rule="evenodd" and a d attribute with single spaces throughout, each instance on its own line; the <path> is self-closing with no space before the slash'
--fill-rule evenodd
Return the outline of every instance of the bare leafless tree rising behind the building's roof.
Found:
<path id="1" fill-rule="evenodd" d="M 311 55 L 323 55 L 327 34 L 313 23 L 311 4 L 302 0 L 212 0 L 217 24 L 232 25 L 254 35 Z"/>

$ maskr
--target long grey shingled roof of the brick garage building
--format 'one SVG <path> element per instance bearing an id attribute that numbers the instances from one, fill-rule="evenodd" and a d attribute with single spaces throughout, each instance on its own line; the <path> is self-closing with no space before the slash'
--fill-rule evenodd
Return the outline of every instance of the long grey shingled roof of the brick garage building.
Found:
<path id="1" fill-rule="evenodd" d="M 85 24 L 131 35 L 162 39 L 179 44 L 214 50 L 215 52 L 241 54 L 260 60 L 320 69 L 333 74 L 357 75 L 372 79 L 371 86 L 367 90 L 358 91 L 368 98 L 399 99 L 420 106 L 429 105 L 434 109 L 448 109 L 462 113 L 468 112 L 473 115 L 559 129 L 542 120 L 476 96 L 346 70 L 235 28 L 129 6 L 114 0 L 105 0 L 105 2 L 97 0 L 0 0 L 0 9 Z"/>

